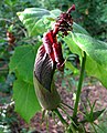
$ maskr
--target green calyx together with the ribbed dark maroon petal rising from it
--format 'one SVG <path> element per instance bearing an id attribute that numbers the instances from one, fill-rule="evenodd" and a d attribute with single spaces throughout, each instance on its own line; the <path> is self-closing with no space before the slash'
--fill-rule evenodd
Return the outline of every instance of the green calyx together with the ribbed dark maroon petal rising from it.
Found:
<path id="1" fill-rule="evenodd" d="M 39 102 L 44 110 L 56 109 L 61 102 L 53 82 L 55 68 L 56 65 L 45 52 L 44 45 L 41 45 L 34 64 L 34 86 Z"/>

